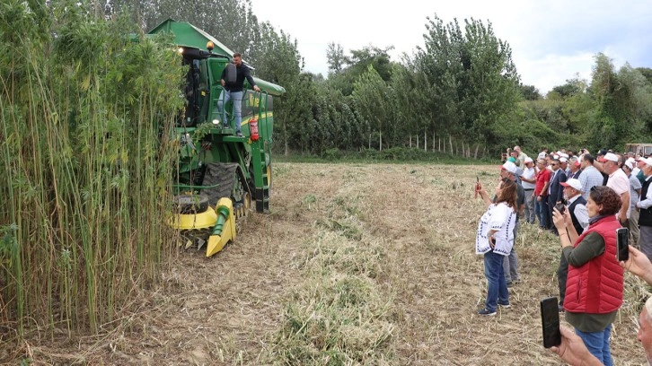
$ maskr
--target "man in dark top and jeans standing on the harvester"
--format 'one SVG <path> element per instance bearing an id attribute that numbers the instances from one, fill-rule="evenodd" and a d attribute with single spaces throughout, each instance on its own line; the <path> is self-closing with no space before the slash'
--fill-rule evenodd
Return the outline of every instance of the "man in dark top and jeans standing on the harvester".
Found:
<path id="1" fill-rule="evenodd" d="M 242 64 L 242 55 L 239 53 L 233 54 L 233 62 L 226 65 L 220 77 L 222 87 L 225 89 L 217 101 L 217 108 L 222 111 L 222 119 L 225 127 L 230 127 L 229 121 L 226 118 L 225 105 L 229 100 L 233 100 L 233 119 L 235 121 L 235 135 L 242 137 L 240 125 L 242 124 L 242 96 L 244 92 L 244 78 L 251 85 L 254 91 L 260 92 L 260 88 L 253 82 L 250 74 L 249 66 Z"/>

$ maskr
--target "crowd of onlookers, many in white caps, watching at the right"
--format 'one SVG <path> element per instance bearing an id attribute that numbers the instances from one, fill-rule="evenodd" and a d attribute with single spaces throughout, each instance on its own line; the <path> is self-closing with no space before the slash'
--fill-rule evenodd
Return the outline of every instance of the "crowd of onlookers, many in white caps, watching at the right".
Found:
<path id="1" fill-rule="evenodd" d="M 487 300 L 478 313 L 493 316 L 498 307 L 510 306 L 507 288 L 520 280 L 514 248 L 519 225 L 538 225 L 559 237 L 559 311 L 575 328 L 574 333 L 563 328 L 562 344 L 553 350 L 571 364 L 571 355 L 590 354 L 596 364 L 611 365 L 623 268 L 652 283 L 652 157 L 543 149 L 533 160 L 519 146 L 504 157 L 494 196 L 480 182 L 475 187 L 487 204 L 475 245 L 484 256 L 488 281 Z M 619 263 L 616 230 L 621 227 L 629 229 L 629 242 L 640 251 L 630 247 L 630 260 Z M 646 312 L 652 311 L 652 301 L 648 304 L 641 322 L 649 323 L 643 336 L 649 344 L 641 332 L 639 340 L 652 354 L 652 312 Z"/>

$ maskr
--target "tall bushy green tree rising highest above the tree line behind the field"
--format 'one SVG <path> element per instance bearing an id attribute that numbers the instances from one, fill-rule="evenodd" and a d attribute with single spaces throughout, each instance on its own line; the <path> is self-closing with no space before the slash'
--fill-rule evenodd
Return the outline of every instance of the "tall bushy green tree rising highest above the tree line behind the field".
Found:
<path id="1" fill-rule="evenodd" d="M 447 25 L 428 18 L 425 49 L 417 55 L 418 70 L 433 86 L 431 109 L 437 126 L 473 141 L 500 144 L 495 126 L 513 118 L 519 95 L 518 74 L 507 42 L 496 38 L 491 24 L 455 20 Z"/>

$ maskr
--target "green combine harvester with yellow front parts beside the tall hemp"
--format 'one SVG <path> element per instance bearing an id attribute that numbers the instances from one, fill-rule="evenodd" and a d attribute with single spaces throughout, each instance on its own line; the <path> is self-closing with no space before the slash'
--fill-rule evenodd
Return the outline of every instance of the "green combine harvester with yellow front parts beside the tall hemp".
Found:
<path id="1" fill-rule="evenodd" d="M 176 124 L 180 155 L 170 224 L 181 231 L 186 248 L 207 244 L 211 257 L 235 239 L 235 220 L 251 211 L 252 201 L 257 212 L 269 211 L 272 99 L 286 90 L 255 77 L 260 92 L 245 83 L 242 137 L 237 136 L 231 101 L 225 105 L 227 121 L 218 109 L 220 75 L 233 51 L 188 22 L 168 19 L 149 34 L 161 32 L 172 34 L 183 65 L 189 66 L 188 102 Z"/>

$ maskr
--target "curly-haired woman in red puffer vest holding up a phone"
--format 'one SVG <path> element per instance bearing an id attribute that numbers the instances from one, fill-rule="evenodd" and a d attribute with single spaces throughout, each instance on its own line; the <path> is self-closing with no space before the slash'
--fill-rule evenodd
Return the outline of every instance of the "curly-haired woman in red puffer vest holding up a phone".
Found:
<path id="1" fill-rule="evenodd" d="M 577 235 L 568 210 L 554 210 L 563 255 L 568 260 L 564 310 L 588 350 L 605 365 L 612 365 L 609 336 L 622 304 L 622 268 L 616 260 L 616 213 L 621 197 L 610 187 L 591 188 L 586 201 L 589 226 Z"/>

